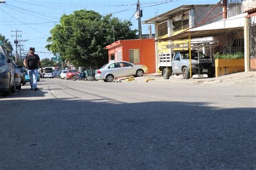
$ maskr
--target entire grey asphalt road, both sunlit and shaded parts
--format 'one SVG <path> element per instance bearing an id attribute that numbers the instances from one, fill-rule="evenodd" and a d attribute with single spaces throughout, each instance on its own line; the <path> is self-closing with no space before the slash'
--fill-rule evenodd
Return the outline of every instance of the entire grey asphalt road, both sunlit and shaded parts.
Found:
<path id="1" fill-rule="evenodd" d="M 43 79 L 0 97 L 0 169 L 255 169 L 255 87 Z"/>

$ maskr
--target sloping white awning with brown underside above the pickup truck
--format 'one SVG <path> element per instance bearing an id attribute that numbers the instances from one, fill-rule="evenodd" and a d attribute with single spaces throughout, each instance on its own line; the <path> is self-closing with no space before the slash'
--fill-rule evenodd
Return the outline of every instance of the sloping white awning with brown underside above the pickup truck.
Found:
<path id="1" fill-rule="evenodd" d="M 244 30 L 245 16 L 246 13 L 242 13 L 240 15 L 233 16 L 227 19 L 221 19 L 211 24 L 199 26 L 190 30 L 185 30 L 174 36 L 157 39 L 157 41 L 161 42 L 169 40 L 183 40 L 188 39 L 188 35 L 191 35 L 191 38 L 212 37 L 224 33 L 242 31 Z"/>

